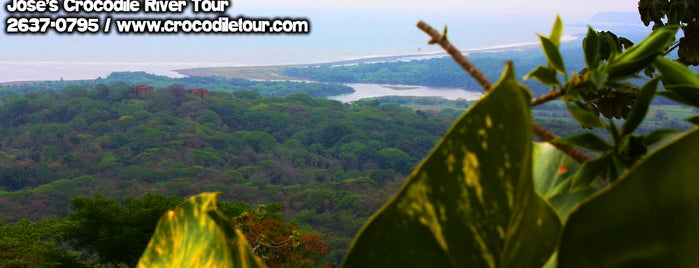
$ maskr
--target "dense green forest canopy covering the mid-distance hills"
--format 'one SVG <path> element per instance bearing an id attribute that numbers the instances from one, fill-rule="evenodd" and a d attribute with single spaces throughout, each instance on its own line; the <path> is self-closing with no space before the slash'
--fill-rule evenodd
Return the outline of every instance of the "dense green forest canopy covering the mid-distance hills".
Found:
<path id="1" fill-rule="evenodd" d="M 449 125 L 438 112 L 305 94 L 40 86 L 0 106 L 6 221 L 65 216 L 72 198 L 97 193 L 125 202 L 218 191 L 282 202 L 286 219 L 325 234 L 331 262 Z"/>

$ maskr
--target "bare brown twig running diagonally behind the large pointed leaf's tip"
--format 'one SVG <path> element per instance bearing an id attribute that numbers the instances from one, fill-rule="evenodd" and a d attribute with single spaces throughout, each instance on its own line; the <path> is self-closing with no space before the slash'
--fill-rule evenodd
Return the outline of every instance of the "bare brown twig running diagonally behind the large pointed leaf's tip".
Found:
<path id="1" fill-rule="evenodd" d="M 454 61 L 456 61 L 456 63 L 461 65 L 461 67 L 464 68 L 464 70 L 469 75 L 471 75 L 471 77 L 473 77 L 473 79 L 475 79 L 481 85 L 481 87 L 483 87 L 483 89 L 485 91 L 490 90 L 490 88 L 492 87 L 493 84 L 490 83 L 490 80 L 488 80 L 488 77 L 486 77 L 480 70 L 478 70 L 478 68 L 476 68 L 476 66 L 471 64 L 471 62 L 468 61 L 468 59 L 466 59 L 466 57 L 464 57 L 463 54 L 461 54 L 461 51 L 459 51 L 459 49 L 454 47 L 449 42 L 449 40 L 447 40 L 446 36 L 442 36 L 437 30 L 432 28 L 432 26 L 430 26 L 429 24 L 427 24 L 424 21 L 418 22 L 417 27 L 420 28 L 420 30 L 427 33 L 430 37 L 432 37 L 432 40 L 430 40 L 430 42 L 429 42 L 430 44 L 437 43 L 440 46 L 442 46 L 442 48 L 444 48 L 444 50 L 446 50 L 447 53 L 449 53 L 449 55 L 454 59 Z M 554 92 L 561 92 L 561 91 L 558 90 L 558 91 L 554 91 Z M 560 95 L 561 93 L 556 93 L 556 94 Z M 548 98 L 558 97 L 558 96 L 548 96 L 548 95 L 555 95 L 555 94 L 547 94 L 547 95 L 544 95 L 540 98 L 548 99 Z M 536 103 L 537 100 L 534 100 L 534 103 Z M 544 101 L 539 101 L 539 102 L 544 102 Z M 555 142 L 554 140 L 557 138 L 556 134 L 551 133 L 550 131 L 548 131 L 546 128 L 540 126 L 539 124 L 532 122 L 532 130 L 534 131 L 534 134 L 536 134 L 539 138 L 550 143 L 551 145 L 558 148 L 559 150 L 563 151 L 565 154 L 567 154 L 571 158 L 575 159 L 576 161 L 578 161 L 580 163 L 584 163 L 590 159 L 589 156 L 585 155 L 583 152 L 579 151 L 578 149 L 575 149 L 575 147 L 573 147 L 570 144 Z"/>

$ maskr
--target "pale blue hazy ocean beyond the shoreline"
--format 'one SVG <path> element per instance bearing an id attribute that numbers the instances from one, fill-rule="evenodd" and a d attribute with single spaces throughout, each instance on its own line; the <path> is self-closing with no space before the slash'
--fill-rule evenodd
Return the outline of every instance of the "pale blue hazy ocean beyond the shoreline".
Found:
<path id="1" fill-rule="evenodd" d="M 2 18 L 7 15 L 0 14 Z M 440 30 L 447 25 L 449 39 L 460 49 L 496 47 L 536 42 L 536 33 L 548 34 L 555 19 L 516 14 L 392 14 L 385 11 L 274 11 L 235 7 L 229 10 L 228 16 L 306 18 L 311 23 L 311 32 L 3 34 L 0 82 L 95 79 L 114 71 L 146 71 L 177 77 L 173 70 L 309 64 L 441 51 L 438 46 L 427 44 L 428 36 L 415 26 L 419 20 L 425 20 Z M 584 25 L 585 22 L 573 23 Z M 585 31 L 582 26 L 566 27 L 569 36 Z"/>

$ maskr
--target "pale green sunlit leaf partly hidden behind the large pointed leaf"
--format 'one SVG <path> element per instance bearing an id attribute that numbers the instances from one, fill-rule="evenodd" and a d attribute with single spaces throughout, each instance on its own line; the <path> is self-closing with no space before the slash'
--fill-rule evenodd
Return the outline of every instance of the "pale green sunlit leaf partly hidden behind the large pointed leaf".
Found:
<path id="1" fill-rule="evenodd" d="M 561 220 L 583 199 L 599 191 L 601 181 L 574 191 L 571 183 L 581 165 L 548 143 L 534 143 L 534 190 L 548 200 Z"/>

